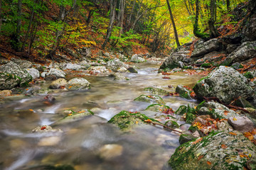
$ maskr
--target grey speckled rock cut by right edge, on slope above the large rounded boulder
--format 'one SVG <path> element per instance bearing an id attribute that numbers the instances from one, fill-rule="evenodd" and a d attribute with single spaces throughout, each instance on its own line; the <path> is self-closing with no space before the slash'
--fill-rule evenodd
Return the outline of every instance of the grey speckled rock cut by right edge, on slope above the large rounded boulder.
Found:
<path id="1" fill-rule="evenodd" d="M 243 62 L 245 60 L 256 57 L 256 41 L 242 42 L 236 50 L 230 53 L 222 64 L 230 65 L 234 62 Z"/>

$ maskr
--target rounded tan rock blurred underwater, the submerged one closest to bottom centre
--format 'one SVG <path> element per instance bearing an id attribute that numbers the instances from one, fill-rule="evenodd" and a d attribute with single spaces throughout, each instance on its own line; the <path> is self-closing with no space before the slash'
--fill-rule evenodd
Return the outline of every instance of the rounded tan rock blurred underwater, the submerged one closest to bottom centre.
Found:
<path id="1" fill-rule="evenodd" d="M 107 144 L 103 145 L 99 150 L 99 156 L 102 159 L 107 161 L 111 161 L 116 159 L 117 157 L 121 156 L 123 152 L 122 145 L 117 144 Z"/>

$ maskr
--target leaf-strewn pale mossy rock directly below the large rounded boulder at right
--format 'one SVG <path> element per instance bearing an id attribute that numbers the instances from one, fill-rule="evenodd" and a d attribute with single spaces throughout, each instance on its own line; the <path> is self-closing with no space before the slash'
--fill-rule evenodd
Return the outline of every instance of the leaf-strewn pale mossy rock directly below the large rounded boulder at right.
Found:
<path id="1" fill-rule="evenodd" d="M 226 106 L 213 101 L 203 101 L 196 107 L 196 111 L 198 115 L 210 115 L 215 119 L 228 119 L 233 116 L 238 116 L 235 111 L 230 110 Z"/>

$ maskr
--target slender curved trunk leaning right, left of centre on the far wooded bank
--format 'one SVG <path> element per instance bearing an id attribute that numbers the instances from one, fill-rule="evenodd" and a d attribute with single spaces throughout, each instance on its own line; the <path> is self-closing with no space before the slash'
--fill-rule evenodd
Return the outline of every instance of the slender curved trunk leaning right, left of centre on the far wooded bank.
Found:
<path id="1" fill-rule="evenodd" d="M 111 0 L 110 1 L 110 23 L 107 28 L 107 35 L 106 35 L 105 41 L 102 44 L 103 49 L 105 49 L 107 42 L 110 40 L 110 36 L 112 34 L 112 30 L 114 27 L 114 18 L 116 16 L 116 6 L 117 6 L 117 0 Z"/>

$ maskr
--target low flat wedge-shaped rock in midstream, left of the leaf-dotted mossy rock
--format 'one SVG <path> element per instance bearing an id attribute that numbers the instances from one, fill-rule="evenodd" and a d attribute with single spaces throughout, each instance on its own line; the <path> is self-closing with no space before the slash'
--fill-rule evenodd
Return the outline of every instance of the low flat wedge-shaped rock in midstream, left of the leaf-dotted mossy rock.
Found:
<path id="1" fill-rule="evenodd" d="M 84 109 L 84 110 L 79 111 L 79 112 L 73 112 L 72 111 L 72 113 L 68 114 L 64 118 L 55 122 L 54 125 L 60 125 L 60 124 L 63 124 L 63 123 L 75 122 L 77 120 L 81 120 L 81 119 L 87 117 L 88 115 L 94 115 L 94 113 L 90 110 L 87 110 L 87 109 Z"/>

